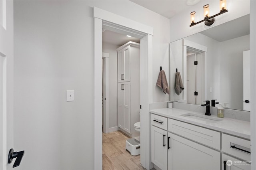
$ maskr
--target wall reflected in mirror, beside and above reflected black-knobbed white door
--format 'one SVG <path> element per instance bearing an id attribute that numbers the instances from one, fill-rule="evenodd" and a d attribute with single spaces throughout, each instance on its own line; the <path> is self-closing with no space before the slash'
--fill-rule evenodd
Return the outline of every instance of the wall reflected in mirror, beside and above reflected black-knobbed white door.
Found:
<path id="1" fill-rule="evenodd" d="M 243 51 L 250 49 L 250 35 L 220 43 L 220 103 L 243 110 Z"/>

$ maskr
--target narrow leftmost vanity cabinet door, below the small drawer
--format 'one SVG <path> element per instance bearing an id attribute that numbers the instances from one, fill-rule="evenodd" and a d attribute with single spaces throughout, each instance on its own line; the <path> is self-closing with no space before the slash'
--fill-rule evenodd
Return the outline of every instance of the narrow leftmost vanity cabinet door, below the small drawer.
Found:
<path id="1" fill-rule="evenodd" d="M 167 131 L 151 126 L 151 161 L 167 170 Z"/>

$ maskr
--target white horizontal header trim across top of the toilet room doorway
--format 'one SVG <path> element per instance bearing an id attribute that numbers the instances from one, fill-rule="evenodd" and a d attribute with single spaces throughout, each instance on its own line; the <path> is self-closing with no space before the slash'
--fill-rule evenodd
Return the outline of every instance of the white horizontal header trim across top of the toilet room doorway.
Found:
<path id="1" fill-rule="evenodd" d="M 112 12 L 108 12 L 105 10 L 102 10 L 100 8 L 94 7 L 94 17 L 100 18 L 106 22 L 112 22 L 114 24 L 118 24 L 120 26 L 130 28 L 132 30 L 136 30 L 139 32 L 144 32 L 146 34 L 153 35 L 153 28 L 144 24 L 141 24 L 139 22 L 136 22 L 134 20 L 130 20 L 128 18 L 124 18 L 122 16 L 119 16 L 117 14 L 114 14 Z"/>

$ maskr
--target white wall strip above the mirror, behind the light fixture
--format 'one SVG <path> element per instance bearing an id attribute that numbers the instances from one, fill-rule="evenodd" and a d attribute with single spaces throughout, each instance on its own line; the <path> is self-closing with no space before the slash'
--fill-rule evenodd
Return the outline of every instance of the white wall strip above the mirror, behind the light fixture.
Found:
<path id="1" fill-rule="evenodd" d="M 220 4 L 217 0 L 201 0 L 195 6 L 191 6 L 188 10 L 184 10 L 170 18 L 170 42 L 174 42 L 181 38 L 250 14 L 250 0 L 227 0 L 226 2 L 228 12 L 216 16 L 215 22 L 211 26 L 206 26 L 204 23 L 200 23 L 190 27 L 190 12 L 196 12 L 195 22 L 203 20 L 203 6 L 206 4 L 210 5 L 210 15 L 217 14 L 220 12 Z"/>

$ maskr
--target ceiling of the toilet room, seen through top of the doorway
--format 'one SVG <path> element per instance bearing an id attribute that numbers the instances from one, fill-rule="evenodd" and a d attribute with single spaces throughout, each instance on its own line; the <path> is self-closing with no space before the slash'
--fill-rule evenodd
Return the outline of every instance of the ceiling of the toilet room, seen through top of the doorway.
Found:
<path id="1" fill-rule="evenodd" d="M 127 37 L 124 34 L 119 34 L 116 32 L 109 31 L 109 30 L 105 30 L 104 32 L 102 31 L 102 42 L 103 43 L 110 43 L 113 45 L 121 46 L 129 41 L 140 43 L 139 38 Z"/>

